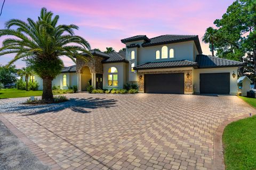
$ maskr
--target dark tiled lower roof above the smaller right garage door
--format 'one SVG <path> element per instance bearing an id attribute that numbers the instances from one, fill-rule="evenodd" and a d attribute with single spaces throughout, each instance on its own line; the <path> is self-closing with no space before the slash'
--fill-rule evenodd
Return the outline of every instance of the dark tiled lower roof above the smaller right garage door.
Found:
<path id="1" fill-rule="evenodd" d="M 198 68 L 214 68 L 214 67 L 238 67 L 244 66 L 243 62 L 233 61 L 218 58 L 216 56 L 209 55 L 197 55 L 196 62 L 198 63 Z"/>

